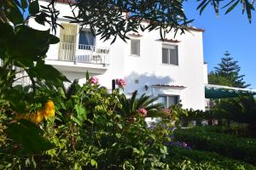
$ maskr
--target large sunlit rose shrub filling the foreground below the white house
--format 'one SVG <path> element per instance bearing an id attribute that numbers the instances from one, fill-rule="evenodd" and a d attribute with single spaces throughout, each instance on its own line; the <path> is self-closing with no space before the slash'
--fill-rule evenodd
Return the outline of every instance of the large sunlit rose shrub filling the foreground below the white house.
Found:
<path id="1" fill-rule="evenodd" d="M 82 87 L 73 82 L 66 93 L 52 94 L 55 117 L 38 122 L 41 130 L 36 132 L 51 141 L 54 147 L 27 154 L 24 150 L 27 143 L 20 144 L 20 140 L 12 139 L 1 147 L 2 154 L 8 156 L 0 165 L 23 169 L 167 168 L 165 144 L 171 140 L 170 122 L 163 119 L 149 129 L 140 111 L 131 110 L 128 116 L 122 116 L 122 107 L 126 105 L 119 102 L 123 97 L 119 88 L 109 94 L 107 88 L 91 83 L 88 74 L 86 79 Z M 149 105 L 150 98 L 143 95 L 143 99 Z M 127 103 L 125 99 L 124 103 Z M 145 108 L 150 111 L 147 105 Z M 129 115 L 134 118 L 132 121 Z"/>

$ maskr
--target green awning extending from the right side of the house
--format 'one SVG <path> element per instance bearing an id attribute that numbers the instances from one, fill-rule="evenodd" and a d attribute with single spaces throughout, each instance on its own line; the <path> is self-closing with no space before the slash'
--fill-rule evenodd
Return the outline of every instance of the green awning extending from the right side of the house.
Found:
<path id="1" fill-rule="evenodd" d="M 206 99 L 226 99 L 226 98 L 236 98 L 239 95 L 253 94 L 249 92 L 244 92 L 241 90 L 225 89 L 225 88 L 205 88 Z"/>

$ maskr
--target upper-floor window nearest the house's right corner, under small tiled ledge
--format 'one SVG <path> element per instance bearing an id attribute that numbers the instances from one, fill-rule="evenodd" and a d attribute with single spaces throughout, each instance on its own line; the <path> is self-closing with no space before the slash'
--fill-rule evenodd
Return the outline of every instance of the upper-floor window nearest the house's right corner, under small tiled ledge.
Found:
<path id="1" fill-rule="evenodd" d="M 163 45 L 162 63 L 166 65 L 178 65 L 177 46 L 166 44 Z"/>

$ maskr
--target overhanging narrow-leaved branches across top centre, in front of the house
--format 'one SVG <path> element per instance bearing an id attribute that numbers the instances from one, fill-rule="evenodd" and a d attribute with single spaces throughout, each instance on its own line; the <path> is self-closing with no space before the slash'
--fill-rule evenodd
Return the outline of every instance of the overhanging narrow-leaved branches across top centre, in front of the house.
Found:
<path id="1" fill-rule="evenodd" d="M 82 26 L 89 26 L 90 31 L 101 35 L 104 40 L 113 37 L 112 42 L 117 37 L 124 41 L 130 39 L 126 36 L 130 31 L 155 29 L 159 29 L 160 37 L 164 39 L 166 33 L 170 31 L 183 34 L 192 21 L 186 18 L 183 3 L 178 0 L 154 0 L 154 2 L 112 0 L 101 1 L 101 3 L 88 0 L 74 3 L 73 8 L 78 8 L 79 12 L 73 13 L 73 17 L 67 17 L 68 19 Z M 145 21 L 148 21 L 148 25 L 145 25 Z"/>

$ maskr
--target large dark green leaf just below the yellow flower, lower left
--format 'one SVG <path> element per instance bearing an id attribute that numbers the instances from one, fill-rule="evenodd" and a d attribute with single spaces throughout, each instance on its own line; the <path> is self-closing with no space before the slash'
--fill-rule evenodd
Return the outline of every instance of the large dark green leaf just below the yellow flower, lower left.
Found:
<path id="1" fill-rule="evenodd" d="M 20 120 L 18 123 L 10 123 L 7 129 L 10 139 L 22 145 L 27 154 L 38 153 L 55 148 L 47 139 L 42 137 L 43 130 L 36 124 Z"/>

